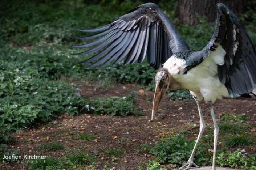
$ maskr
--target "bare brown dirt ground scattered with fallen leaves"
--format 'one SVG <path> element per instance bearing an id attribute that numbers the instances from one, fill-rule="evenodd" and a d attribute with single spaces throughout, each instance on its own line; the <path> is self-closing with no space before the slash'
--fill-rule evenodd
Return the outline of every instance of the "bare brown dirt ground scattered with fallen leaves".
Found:
<path id="1" fill-rule="evenodd" d="M 170 133 L 181 133 L 182 130 L 188 131 L 186 137 L 193 138 L 194 133 L 199 132 L 199 116 L 197 106 L 194 100 L 188 102 L 168 101 L 168 95 L 164 95 L 159 107 L 156 118 L 151 119 L 151 107 L 153 103 L 154 92 L 145 91 L 138 85 L 133 84 L 115 84 L 110 88 L 96 88 L 86 86 L 81 82 L 76 82 L 81 89 L 81 96 L 89 99 L 105 96 L 125 96 L 130 92 L 138 92 L 136 99 L 138 108 L 142 110 L 143 116 L 111 117 L 106 115 L 80 114 L 73 117 L 68 114 L 60 116 L 57 120 L 47 124 L 40 125 L 34 129 L 21 131 L 13 138 L 15 141 L 9 143 L 11 148 L 17 149 L 23 154 L 53 155 L 56 157 L 66 156 L 72 150 L 82 150 L 84 152 L 96 154 L 96 169 L 103 169 L 108 161 L 109 167 L 116 169 L 137 170 L 138 166 L 146 168 L 146 162 L 154 157 L 141 151 L 141 144 L 153 145 L 160 137 Z M 150 98 L 150 102 L 146 102 Z M 209 126 L 213 126 L 210 109 L 206 103 L 202 103 L 204 120 Z M 245 124 L 251 126 L 247 132 L 255 138 L 256 136 L 256 100 L 254 99 L 223 99 L 214 104 L 214 111 L 217 118 L 221 114 L 237 113 L 245 114 L 249 118 Z M 191 124 L 196 127 L 191 131 Z M 92 133 L 93 140 L 80 140 L 75 135 L 77 132 Z M 220 135 L 219 138 L 222 136 Z M 40 150 L 40 144 L 48 141 L 60 141 L 65 146 L 65 150 L 55 152 L 44 152 Z M 210 141 L 213 144 L 213 141 Z M 212 146 L 213 147 L 213 146 Z M 220 146 L 219 146 L 220 147 Z M 111 156 L 103 154 L 106 149 L 123 149 L 125 154 L 117 156 L 118 161 L 111 161 Z M 232 148 L 231 148 L 232 149 Z M 245 148 L 249 153 L 256 153 L 256 148 L 248 146 Z M 236 150 L 236 149 L 234 149 Z M 86 169 L 87 166 L 82 166 Z M 173 169 L 171 165 L 161 165 L 167 169 Z M 2 166 L 2 169 L 23 169 L 26 164 L 8 163 Z"/>

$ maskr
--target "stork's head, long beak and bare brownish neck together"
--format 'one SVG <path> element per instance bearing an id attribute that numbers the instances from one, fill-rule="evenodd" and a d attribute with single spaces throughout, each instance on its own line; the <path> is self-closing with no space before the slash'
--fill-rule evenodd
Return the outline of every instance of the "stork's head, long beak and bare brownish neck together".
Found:
<path id="1" fill-rule="evenodd" d="M 168 69 L 158 69 L 157 75 L 155 75 L 155 94 L 152 108 L 152 117 L 154 119 L 157 112 L 157 106 L 159 105 L 164 93 L 167 92 L 168 87 L 171 89 L 180 89 L 181 85 L 174 80 L 172 75 L 168 72 Z"/>

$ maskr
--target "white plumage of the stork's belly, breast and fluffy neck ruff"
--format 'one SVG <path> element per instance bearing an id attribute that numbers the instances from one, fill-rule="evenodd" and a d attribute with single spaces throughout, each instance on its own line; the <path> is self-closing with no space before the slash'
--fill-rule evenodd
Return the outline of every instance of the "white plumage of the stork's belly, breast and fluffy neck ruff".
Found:
<path id="1" fill-rule="evenodd" d="M 186 61 L 172 55 L 163 65 L 169 74 L 198 101 L 212 101 L 229 97 L 228 90 L 219 81 L 217 65 L 224 64 L 226 51 L 219 45 L 216 51 L 210 51 L 202 63 L 190 69 L 186 74 Z"/>

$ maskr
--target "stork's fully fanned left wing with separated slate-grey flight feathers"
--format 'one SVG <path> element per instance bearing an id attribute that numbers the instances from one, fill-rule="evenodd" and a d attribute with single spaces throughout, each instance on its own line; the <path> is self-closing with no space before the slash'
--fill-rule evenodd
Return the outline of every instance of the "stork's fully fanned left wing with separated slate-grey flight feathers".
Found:
<path id="1" fill-rule="evenodd" d="M 101 31 L 88 37 L 78 38 L 98 38 L 95 41 L 80 46 L 72 46 L 93 46 L 90 50 L 76 55 L 90 54 L 101 50 L 92 58 L 80 62 L 94 61 L 87 68 L 99 64 L 101 64 L 99 67 L 103 67 L 113 60 L 115 60 L 113 64 L 116 64 L 125 57 L 124 64 L 134 63 L 136 60 L 141 63 L 146 54 L 148 63 L 154 68 L 158 68 L 173 53 L 189 50 L 188 45 L 167 16 L 153 3 L 136 7 L 111 24 L 79 31 Z M 96 44 L 98 45 L 94 46 Z"/>

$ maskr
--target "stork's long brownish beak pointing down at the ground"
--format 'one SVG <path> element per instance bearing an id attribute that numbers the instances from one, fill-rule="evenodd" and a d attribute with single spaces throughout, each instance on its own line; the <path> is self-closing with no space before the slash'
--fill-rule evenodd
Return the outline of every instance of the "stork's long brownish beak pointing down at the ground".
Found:
<path id="1" fill-rule="evenodd" d="M 157 106 L 159 105 L 167 88 L 168 88 L 168 86 L 165 87 L 163 84 L 162 85 L 156 84 L 151 120 L 154 119 L 155 113 L 157 112 Z"/>

